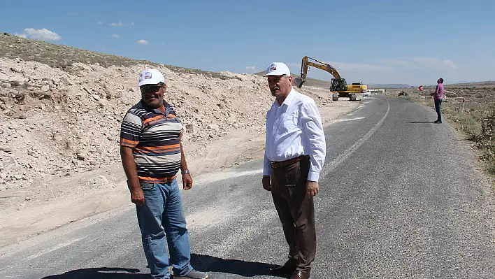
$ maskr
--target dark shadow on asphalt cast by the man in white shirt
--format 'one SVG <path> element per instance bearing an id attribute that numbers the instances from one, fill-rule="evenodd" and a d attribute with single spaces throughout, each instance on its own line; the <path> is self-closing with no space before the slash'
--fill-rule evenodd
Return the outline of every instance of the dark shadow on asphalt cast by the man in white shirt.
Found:
<path id="1" fill-rule="evenodd" d="M 191 255 L 191 264 L 198 271 L 230 273 L 244 277 L 270 275 L 270 269 L 278 266 L 275 264 L 245 262 L 239 259 L 221 259 L 219 257 L 197 254 Z"/>

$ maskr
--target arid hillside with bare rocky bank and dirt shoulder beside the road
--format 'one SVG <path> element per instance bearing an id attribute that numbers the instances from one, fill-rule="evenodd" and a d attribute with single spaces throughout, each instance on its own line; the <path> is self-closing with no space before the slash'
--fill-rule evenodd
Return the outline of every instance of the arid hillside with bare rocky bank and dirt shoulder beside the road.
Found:
<path id="1" fill-rule="evenodd" d="M 257 159 L 273 97 L 258 75 L 136 61 L 0 34 L 0 246 L 132 206 L 120 122 L 140 99 L 138 73 L 166 76 L 193 178 Z M 305 86 L 325 124 L 359 102 Z M 261 186 L 260 186 L 261 187 Z"/>

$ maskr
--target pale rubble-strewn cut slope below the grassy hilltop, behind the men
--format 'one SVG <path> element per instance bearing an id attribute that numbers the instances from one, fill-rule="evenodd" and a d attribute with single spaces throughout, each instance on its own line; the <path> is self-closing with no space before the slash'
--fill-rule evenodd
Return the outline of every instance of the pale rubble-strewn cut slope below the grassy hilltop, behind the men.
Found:
<path id="1" fill-rule="evenodd" d="M 136 80 L 147 67 L 75 62 L 62 69 L 0 59 L 0 189 L 119 162 L 120 122 L 140 99 Z M 185 144 L 264 125 L 272 100 L 264 78 L 228 72 L 215 78 L 155 67 L 166 76 L 166 99 L 180 115 Z"/>

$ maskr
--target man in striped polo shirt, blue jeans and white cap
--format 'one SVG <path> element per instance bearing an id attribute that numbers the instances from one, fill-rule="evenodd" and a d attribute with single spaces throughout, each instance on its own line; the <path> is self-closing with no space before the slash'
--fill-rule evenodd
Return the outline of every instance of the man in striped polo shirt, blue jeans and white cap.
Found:
<path id="1" fill-rule="evenodd" d="M 177 184 L 192 178 L 182 150 L 182 125 L 164 101 L 165 78 L 156 69 L 141 72 L 141 101 L 127 111 L 120 129 L 120 155 L 131 192 L 148 266 L 153 278 L 170 278 L 167 243 L 175 279 L 208 278 L 189 263 L 189 234 Z"/>

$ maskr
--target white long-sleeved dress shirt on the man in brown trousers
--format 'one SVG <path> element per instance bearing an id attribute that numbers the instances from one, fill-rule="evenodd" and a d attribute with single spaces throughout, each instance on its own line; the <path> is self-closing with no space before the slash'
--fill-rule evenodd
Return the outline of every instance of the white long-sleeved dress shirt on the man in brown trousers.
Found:
<path id="1" fill-rule="evenodd" d="M 271 175 L 270 161 L 280 162 L 310 155 L 308 180 L 318 181 L 327 148 L 322 118 L 309 96 L 292 89 L 279 106 L 277 99 L 266 113 L 263 175 Z"/>

